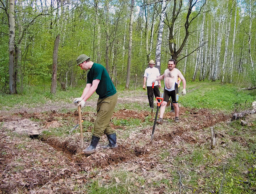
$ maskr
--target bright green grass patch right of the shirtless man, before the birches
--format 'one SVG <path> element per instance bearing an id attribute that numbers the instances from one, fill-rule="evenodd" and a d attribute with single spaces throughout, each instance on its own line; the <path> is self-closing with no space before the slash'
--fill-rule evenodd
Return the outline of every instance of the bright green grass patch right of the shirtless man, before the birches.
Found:
<path id="1" fill-rule="evenodd" d="M 180 95 L 179 103 L 190 108 L 210 108 L 230 113 L 234 109 L 240 111 L 251 108 L 252 102 L 256 100 L 249 91 L 239 91 L 236 86 L 221 85 L 219 81 L 189 82 L 186 90 L 185 96 Z"/>

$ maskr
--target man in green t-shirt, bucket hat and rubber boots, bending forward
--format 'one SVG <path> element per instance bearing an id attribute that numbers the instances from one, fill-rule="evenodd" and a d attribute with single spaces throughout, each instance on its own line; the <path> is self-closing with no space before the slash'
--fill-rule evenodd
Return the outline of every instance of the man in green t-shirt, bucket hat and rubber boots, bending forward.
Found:
<path id="1" fill-rule="evenodd" d="M 99 95 L 97 102 L 97 119 L 94 123 L 91 144 L 88 148 L 84 149 L 83 152 L 85 154 L 94 153 L 103 134 L 107 135 L 108 145 L 102 147 L 116 148 L 116 133 L 109 125 L 117 102 L 116 88 L 105 67 L 101 64 L 93 63 L 90 61 L 90 57 L 82 54 L 77 57 L 76 64 L 82 70 L 89 70 L 89 72 L 87 73 L 87 84 L 84 88 L 84 92 L 80 98 L 74 99 L 74 103 L 83 108 L 85 102 L 94 92 Z"/>

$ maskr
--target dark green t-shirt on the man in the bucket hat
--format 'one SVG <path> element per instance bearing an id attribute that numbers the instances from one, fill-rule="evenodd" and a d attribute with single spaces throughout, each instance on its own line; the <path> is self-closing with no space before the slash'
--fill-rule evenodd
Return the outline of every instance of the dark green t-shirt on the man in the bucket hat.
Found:
<path id="1" fill-rule="evenodd" d="M 112 83 L 107 70 L 101 64 L 93 63 L 92 68 L 87 73 L 87 84 L 92 84 L 94 79 L 99 79 L 100 83 L 96 89 L 99 98 L 112 96 L 116 93 L 116 88 Z"/>

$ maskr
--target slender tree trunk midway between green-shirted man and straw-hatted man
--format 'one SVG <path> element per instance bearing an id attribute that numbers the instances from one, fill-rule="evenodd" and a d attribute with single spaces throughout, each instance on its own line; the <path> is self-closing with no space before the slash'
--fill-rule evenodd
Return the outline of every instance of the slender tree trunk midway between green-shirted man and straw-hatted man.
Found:
<path id="1" fill-rule="evenodd" d="M 131 14 L 129 24 L 129 48 L 128 48 L 128 59 L 127 59 L 127 72 L 126 72 L 126 84 L 125 89 L 129 89 L 130 84 L 130 73 L 131 73 L 131 59 L 132 59 L 132 24 L 133 24 L 133 7 L 134 0 L 131 0 Z"/>

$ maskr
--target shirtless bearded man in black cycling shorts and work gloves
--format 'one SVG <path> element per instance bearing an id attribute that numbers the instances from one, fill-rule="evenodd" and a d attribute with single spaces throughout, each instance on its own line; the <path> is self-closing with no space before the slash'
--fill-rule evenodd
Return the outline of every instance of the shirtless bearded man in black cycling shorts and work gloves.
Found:
<path id="1" fill-rule="evenodd" d="M 156 82 L 158 80 L 164 79 L 164 100 L 162 102 L 162 105 L 160 107 L 160 115 L 159 119 L 157 119 L 156 123 L 163 124 L 163 116 L 165 111 L 165 106 L 169 100 L 169 98 L 172 98 L 172 104 L 174 106 L 174 112 L 175 112 L 175 123 L 179 123 L 179 92 L 178 92 L 178 78 L 181 79 L 183 90 L 182 95 L 186 94 L 186 80 L 184 76 L 181 74 L 180 70 L 175 68 L 176 61 L 174 59 L 169 59 L 168 61 L 168 69 L 164 71 L 164 74 L 156 78 L 152 81 Z"/>

